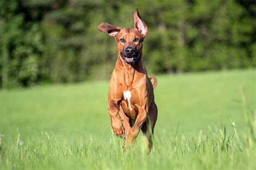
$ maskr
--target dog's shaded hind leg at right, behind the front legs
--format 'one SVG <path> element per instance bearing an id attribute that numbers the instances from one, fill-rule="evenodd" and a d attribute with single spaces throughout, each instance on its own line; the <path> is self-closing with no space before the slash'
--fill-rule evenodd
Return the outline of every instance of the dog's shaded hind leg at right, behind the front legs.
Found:
<path id="1" fill-rule="evenodd" d="M 157 122 L 157 105 L 153 102 L 150 105 L 149 113 L 147 115 L 146 122 L 142 126 L 142 132 L 146 138 L 146 146 L 151 151 L 152 148 L 152 139 L 154 133 L 154 125 Z"/>

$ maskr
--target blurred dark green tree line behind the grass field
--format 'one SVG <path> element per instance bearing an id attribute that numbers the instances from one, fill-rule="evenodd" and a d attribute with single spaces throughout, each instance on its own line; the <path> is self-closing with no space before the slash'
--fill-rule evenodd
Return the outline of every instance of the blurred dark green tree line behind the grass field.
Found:
<path id="1" fill-rule="evenodd" d="M 2 88 L 110 77 L 115 42 L 97 26 L 133 27 L 136 8 L 150 72 L 256 66 L 254 1 L 0 0 Z"/>

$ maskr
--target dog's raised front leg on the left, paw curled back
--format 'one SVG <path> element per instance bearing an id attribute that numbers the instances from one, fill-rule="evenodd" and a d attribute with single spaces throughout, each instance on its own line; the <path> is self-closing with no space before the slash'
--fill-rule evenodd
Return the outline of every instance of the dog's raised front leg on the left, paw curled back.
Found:
<path id="1" fill-rule="evenodd" d="M 111 126 L 114 133 L 119 137 L 122 138 L 124 135 L 124 126 L 121 121 L 121 117 L 118 114 L 119 112 L 119 103 L 117 100 L 110 100 L 109 101 L 109 115 L 111 118 Z"/>

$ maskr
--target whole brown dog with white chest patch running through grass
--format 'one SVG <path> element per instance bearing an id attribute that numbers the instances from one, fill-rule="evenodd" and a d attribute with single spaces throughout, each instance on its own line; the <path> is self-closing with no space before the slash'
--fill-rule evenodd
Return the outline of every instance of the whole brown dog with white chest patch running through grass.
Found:
<path id="1" fill-rule="evenodd" d="M 134 12 L 133 29 L 102 23 L 98 30 L 115 38 L 118 52 L 109 86 L 108 106 L 112 129 L 120 138 L 125 133 L 124 146 L 133 144 L 141 129 L 151 149 L 157 121 L 157 105 L 153 93 L 157 79 L 147 76 L 142 61 L 142 42 L 147 27 L 137 9 Z M 151 79 L 154 80 L 153 84 Z"/>

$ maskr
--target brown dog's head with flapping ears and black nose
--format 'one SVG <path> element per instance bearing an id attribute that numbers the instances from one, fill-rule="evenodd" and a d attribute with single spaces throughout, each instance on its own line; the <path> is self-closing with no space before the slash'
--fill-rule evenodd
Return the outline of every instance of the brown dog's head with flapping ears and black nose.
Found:
<path id="1" fill-rule="evenodd" d="M 134 28 L 127 29 L 102 23 L 98 26 L 99 31 L 107 32 L 116 39 L 117 52 L 126 63 L 136 62 L 142 54 L 142 42 L 147 34 L 147 26 L 140 18 L 138 9 L 134 12 Z"/>

